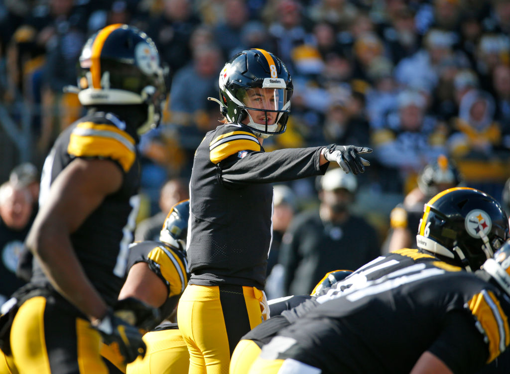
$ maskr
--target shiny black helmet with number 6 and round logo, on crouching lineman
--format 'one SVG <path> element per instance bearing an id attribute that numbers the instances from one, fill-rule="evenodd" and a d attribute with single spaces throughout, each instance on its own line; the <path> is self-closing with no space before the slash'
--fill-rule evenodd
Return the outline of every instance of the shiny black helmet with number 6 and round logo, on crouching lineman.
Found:
<path id="1" fill-rule="evenodd" d="M 508 235 L 508 218 L 493 197 L 455 187 L 425 204 L 416 241 L 418 248 L 474 271 L 492 258 Z"/>

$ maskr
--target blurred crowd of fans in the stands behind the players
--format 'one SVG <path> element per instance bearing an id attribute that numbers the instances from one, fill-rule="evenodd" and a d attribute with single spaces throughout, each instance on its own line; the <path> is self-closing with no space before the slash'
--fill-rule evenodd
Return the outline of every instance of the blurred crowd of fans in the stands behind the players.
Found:
<path id="1" fill-rule="evenodd" d="M 288 130 L 268 138 L 266 151 L 374 149 L 350 192 L 352 211 L 375 227 L 379 244 L 392 209 L 440 155 L 464 185 L 502 199 L 510 177 L 510 0 L 4 0 L 0 102 L 32 108 L 39 170 L 58 133 L 82 114 L 66 89 L 76 85 L 81 47 L 110 23 L 146 32 L 170 71 L 162 124 L 140 144 L 140 219 L 159 211 L 165 182 L 187 184 L 194 151 L 220 117 L 207 100 L 217 96 L 218 71 L 252 47 L 280 57 L 294 81 Z M 313 179 L 286 187 L 292 211 L 322 203 Z"/>

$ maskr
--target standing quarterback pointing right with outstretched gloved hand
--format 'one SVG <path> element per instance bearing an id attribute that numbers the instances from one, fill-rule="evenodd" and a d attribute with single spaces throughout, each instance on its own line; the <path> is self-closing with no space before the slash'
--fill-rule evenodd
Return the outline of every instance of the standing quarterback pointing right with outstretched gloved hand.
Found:
<path id="1" fill-rule="evenodd" d="M 214 100 L 225 119 L 195 152 L 187 248 L 191 278 L 177 310 L 190 372 L 209 374 L 226 372 L 239 338 L 266 318 L 270 183 L 323 174 L 328 161 L 357 174 L 368 165 L 360 154 L 371 152 L 336 144 L 264 152 L 264 138 L 286 130 L 293 83 L 285 64 L 263 49 L 242 51 L 228 61 L 219 87 Z"/>

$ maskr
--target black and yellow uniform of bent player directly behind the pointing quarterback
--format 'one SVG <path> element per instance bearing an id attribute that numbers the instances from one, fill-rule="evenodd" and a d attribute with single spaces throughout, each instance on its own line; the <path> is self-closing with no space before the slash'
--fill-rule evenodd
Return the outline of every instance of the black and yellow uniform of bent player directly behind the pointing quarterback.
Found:
<path id="1" fill-rule="evenodd" d="M 140 241 L 130 245 L 126 276 L 131 267 L 139 262 L 147 263 L 150 270 L 166 285 L 168 298 L 159 310 L 161 318 L 167 318 L 179 303 L 179 297 L 188 283 L 186 253 L 160 241 Z M 144 334 L 143 341 L 147 345 L 144 358 L 138 357 L 127 366 L 112 346 L 103 344 L 101 355 L 124 373 L 152 372 L 156 374 L 169 372 L 169 370 L 175 370 L 175 372 L 188 370 L 188 348 L 176 323 L 161 323 L 154 330 Z"/>

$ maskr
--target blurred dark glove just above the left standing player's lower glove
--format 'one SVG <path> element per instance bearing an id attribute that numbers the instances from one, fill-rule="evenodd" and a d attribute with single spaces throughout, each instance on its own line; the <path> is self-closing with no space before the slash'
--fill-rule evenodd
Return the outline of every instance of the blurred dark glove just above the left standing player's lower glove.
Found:
<path id="1" fill-rule="evenodd" d="M 113 306 L 113 314 L 145 331 L 155 328 L 161 322 L 158 309 L 152 308 L 135 297 L 118 300 Z"/>

